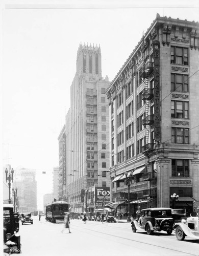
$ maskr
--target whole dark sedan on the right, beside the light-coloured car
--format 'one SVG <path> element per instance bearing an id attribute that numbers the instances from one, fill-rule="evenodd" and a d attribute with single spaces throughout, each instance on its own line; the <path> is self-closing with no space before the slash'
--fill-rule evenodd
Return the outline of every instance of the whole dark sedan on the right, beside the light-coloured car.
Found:
<path id="1" fill-rule="evenodd" d="M 131 227 L 133 232 L 146 231 L 153 234 L 154 231 L 166 231 L 171 234 L 174 220 L 171 218 L 171 208 L 148 208 L 141 210 L 139 220 L 133 220 Z"/>

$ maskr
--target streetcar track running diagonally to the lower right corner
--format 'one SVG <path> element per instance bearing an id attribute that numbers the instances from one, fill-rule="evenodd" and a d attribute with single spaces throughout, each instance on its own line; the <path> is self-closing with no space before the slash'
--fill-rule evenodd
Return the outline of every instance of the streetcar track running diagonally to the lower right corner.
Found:
<path id="1" fill-rule="evenodd" d="M 106 232 L 89 229 L 89 228 L 86 228 L 86 227 L 80 227 L 79 226 L 77 230 L 80 231 L 80 228 L 83 229 L 84 231 L 86 229 L 86 230 L 89 230 L 89 231 L 93 231 L 95 233 L 106 234 L 107 236 L 115 237 L 115 238 L 118 238 L 118 239 L 128 240 L 128 241 L 131 241 L 131 242 L 137 242 L 137 243 L 140 243 L 140 244 L 151 245 L 151 246 L 155 246 L 155 247 L 158 247 L 158 248 L 167 249 L 167 250 L 170 250 L 170 251 L 176 251 L 176 252 L 180 252 L 180 253 L 187 253 L 187 255 L 197 256 L 197 254 L 192 254 L 192 253 L 189 253 L 189 252 L 185 252 L 185 251 L 181 251 L 181 250 L 176 250 L 176 249 L 170 249 L 170 248 L 167 248 L 167 247 L 164 247 L 164 246 L 150 244 L 150 243 L 146 243 L 146 242 L 142 242 L 142 241 L 137 241 L 137 240 L 130 239 L 130 238 L 124 238 L 124 237 L 116 236 L 114 234 L 109 234 L 109 233 L 106 233 Z M 74 227 L 73 227 L 73 229 L 75 230 Z M 126 228 L 123 228 L 123 229 L 126 229 Z"/>

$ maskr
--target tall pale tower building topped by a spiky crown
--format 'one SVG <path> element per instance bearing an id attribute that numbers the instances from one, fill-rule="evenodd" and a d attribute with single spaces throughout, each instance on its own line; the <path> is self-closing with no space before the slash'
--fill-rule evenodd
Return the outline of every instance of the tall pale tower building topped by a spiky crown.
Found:
<path id="1" fill-rule="evenodd" d="M 63 184 L 60 194 L 75 211 L 82 211 L 86 189 L 109 187 L 109 106 L 105 93 L 110 83 L 108 77 L 102 77 L 101 58 L 100 47 L 80 44 L 65 134 L 62 131 L 59 136 Z M 93 191 L 86 192 L 91 202 Z M 90 210 L 93 209 L 94 204 Z"/>

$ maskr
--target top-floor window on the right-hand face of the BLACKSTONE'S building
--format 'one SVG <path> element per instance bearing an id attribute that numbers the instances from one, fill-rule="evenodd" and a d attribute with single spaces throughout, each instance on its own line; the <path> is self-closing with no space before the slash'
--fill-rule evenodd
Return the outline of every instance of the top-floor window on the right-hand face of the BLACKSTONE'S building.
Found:
<path id="1" fill-rule="evenodd" d="M 188 65 L 188 48 L 171 46 L 170 51 L 172 64 Z"/>

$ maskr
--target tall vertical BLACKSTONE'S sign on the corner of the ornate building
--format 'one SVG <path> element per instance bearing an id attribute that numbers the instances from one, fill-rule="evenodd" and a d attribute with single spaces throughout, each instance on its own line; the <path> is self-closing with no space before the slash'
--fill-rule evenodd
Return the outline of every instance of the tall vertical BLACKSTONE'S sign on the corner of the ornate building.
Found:
<path id="1" fill-rule="evenodd" d="M 154 40 L 154 139 L 160 141 L 160 42 Z"/>

